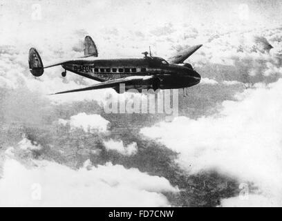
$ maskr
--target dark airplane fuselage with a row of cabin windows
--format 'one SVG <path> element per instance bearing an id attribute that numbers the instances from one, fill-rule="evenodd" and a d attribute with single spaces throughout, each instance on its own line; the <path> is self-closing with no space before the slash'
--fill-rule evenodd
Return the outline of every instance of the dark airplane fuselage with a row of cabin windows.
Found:
<path id="1" fill-rule="evenodd" d="M 200 77 L 194 70 L 171 64 L 156 64 L 149 59 L 77 60 L 63 64 L 65 70 L 96 81 L 109 81 L 130 76 L 153 75 L 160 79 L 160 89 L 194 86 Z M 185 70 L 185 74 L 183 74 Z M 197 76 L 196 76 L 197 75 Z M 196 76 L 196 78 L 195 78 Z M 152 88 L 151 85 L 133 85 L 129 88 Z"/>

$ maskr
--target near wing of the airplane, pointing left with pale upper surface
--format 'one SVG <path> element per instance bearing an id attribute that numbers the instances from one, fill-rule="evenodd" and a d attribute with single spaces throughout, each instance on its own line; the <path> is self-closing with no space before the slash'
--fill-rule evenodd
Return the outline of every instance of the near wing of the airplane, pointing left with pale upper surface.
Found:
<path id="1" fill-rule="evenodd" d="M 104 81 L 99 84 L 94 84 L 93 86 L 88 86 L 86 88 L 78 88 L 74 90 L 65 90 L 61 92 L 54 93 L 52 95 L 64 94 L 64 93 L 72 93 L 72 92 L 79 92 L 84 90 L 97 90 L 103 88 L 119 88 L 120 84 L 130 84 L 130 85 L 144 85 L 144 84 L 151 84 L 155 77 L 153 75 L 149 76 L 131 76 L 131 77 L 124 77 L 120 79 L 113 79 L 109 81 Z"/>

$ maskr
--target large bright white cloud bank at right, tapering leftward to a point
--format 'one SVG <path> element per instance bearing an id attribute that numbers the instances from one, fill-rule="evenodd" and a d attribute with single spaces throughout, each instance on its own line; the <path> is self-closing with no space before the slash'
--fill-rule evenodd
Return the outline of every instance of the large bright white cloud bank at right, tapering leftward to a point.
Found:
<path id="1" fill-rule="evenodd" d="M 216 169 L 254 182 L 264 202 L 282 206 L 281 88 L 282 79 L 267 87 L 258 85 L 237 95 L 236 102 L 223 102 L 217 115 L 178 117 L 140 133 L 180 153 L 178 162 L 190 173 Z M 255 203 L 260 205 L 250 200 L 250 205 Z"/>

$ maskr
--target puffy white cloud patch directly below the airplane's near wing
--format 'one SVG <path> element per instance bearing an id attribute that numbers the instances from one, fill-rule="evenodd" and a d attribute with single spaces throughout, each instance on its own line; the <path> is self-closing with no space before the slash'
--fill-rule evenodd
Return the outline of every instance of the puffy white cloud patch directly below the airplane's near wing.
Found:
<path id="1" fill-rule="evenodd" d="M 59 119 L 59 124 L 66 126 L 69 124 L 71 129 L 82 128 L 86 133 L 102 132 L 106 133 L 110 122 L 101 117 L 100 115 L 93 114 L 87 115 L 86 113 L 78 113 L 71 116 L 70 119 Z"/>

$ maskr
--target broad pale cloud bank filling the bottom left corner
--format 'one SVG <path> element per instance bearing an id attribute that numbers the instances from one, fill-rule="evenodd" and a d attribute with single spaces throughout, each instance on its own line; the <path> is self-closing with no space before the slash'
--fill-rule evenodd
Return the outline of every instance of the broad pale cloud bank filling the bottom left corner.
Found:
<path id="1" fill-rule="evenodd" d="M 1 206 L 169 206 L 177 192 L 164 177 L 111 163 L 77 171 L 48 161 L 27 169 L 8 159 L 0 180 Z"/>

